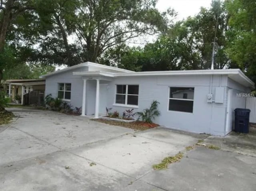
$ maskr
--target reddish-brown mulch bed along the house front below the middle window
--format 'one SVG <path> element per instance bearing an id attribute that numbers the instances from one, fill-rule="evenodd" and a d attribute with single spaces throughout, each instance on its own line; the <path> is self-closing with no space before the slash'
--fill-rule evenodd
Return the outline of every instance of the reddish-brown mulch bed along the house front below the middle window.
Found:
<path id="1" fill-rule="evenodd" d="M 158 124 L 155 123 L 146 123 L 146 122 L 141 122 L 141 121 L 135 121 L 135 122 L 121 122 L 121 121 L 115 121 L 115 120 L 106 120 L 106 119 L 91 119 L 92 121 L 97 121 L 101 123 L 106 123 L 109 125 L 116 125 L 116 126 L 122 126 L 134 130 L 147 130 L 147 129 L 152 129 L 155 127 L 158 127 Z"/>

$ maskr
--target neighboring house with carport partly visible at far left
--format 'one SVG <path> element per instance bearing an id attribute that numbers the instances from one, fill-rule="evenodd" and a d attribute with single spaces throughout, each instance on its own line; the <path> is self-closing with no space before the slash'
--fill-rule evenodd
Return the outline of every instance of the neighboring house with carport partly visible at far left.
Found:
<path id="1" fill-rule="evenodd" d="M 20 101 L 20 104 L 25 104 L 24 95 L 31 91 L 38 91 L 44 94 L 45 80 L 44 79 L 26 79 L 26 80 L 6 80 L 4 82 L 4 91 L 6 95 L 12 98 L 12 101 Z"/>

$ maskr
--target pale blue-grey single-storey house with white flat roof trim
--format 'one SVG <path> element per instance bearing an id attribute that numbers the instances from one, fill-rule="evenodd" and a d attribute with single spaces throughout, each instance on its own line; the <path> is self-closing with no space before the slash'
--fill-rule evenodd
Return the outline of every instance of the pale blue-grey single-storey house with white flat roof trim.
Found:
<path id="1" fill-rule="evenodd" d="M 160 102 L 155 122 L 167 128 L 224 136 L 235 108 L 245 108 L 254 83 L 239 69 L 134 72 L 86 62 L 42 75 L 46 95 L 62 98 L 82 116 L 98 118 L 105 108 L 141 111 Z"/>

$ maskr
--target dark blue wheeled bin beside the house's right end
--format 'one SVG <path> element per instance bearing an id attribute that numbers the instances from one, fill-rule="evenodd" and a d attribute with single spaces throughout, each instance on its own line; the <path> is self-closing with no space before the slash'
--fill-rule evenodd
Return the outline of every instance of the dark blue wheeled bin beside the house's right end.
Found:
<path id="1" fill-rule="evenodd" d="M 249 133 L 250 109 L 236 108 L 235 110 L 235 132 Z"/>

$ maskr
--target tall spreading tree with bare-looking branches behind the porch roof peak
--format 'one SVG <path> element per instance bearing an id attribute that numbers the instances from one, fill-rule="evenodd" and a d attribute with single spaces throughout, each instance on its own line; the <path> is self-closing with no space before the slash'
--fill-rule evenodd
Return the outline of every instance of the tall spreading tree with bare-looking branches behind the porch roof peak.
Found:
<path id="1" fill-rule="evenodd" d="M 96 62 L 110 47 L 142 34 L 165 30 L 165 13 L 156 0 L 80 0 L 78 16 L 69 26 L 76 33 L 86 60 Z"/>

